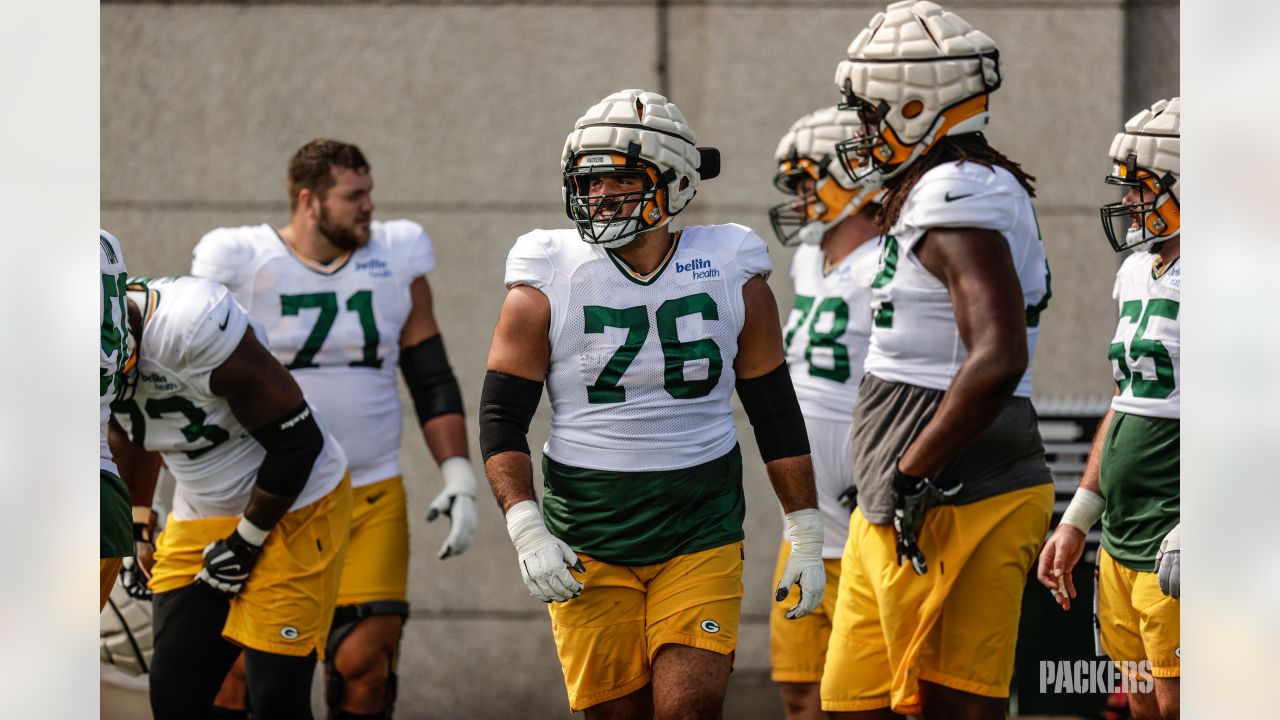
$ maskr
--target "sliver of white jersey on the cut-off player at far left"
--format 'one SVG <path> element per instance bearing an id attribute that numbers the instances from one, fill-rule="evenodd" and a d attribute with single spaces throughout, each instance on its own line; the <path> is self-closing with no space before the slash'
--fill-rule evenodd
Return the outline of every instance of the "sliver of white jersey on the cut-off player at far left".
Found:
<path id="1" fill-rule="evenodd" d="M 99 468 L 119 475 L 115 461 L 111 460 L 111 450 L 106 446 L 106 421 L 111 418 L 111 401 L 120 388 L 120 372 L 124 370 L 129 360 L 129 327 L 127 313 L 124 311 L 124 287 L 128 281 L 128 272 L 124 269 L 124 252 L 120 251 L 120 241 L 106 231 L 99 231 L 99 265 L 102 268 L 101 300 L 97 304 L 97 314 L 102 318 L 100 345 L 97 354 L 99 364 Z"/>

